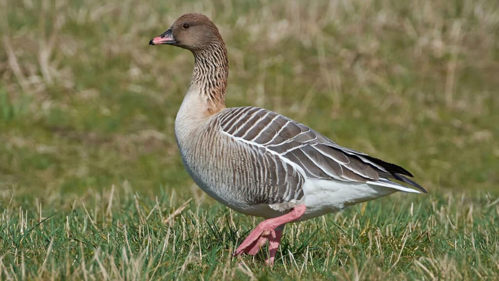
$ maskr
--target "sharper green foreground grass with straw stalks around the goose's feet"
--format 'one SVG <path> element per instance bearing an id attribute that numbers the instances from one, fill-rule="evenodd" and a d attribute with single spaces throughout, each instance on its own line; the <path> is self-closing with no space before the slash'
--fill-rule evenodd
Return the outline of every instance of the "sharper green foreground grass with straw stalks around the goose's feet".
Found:
<path id="1" fill-rule="evenodd" d="M 383 198 L 287 226 L 274 268 L 232 257 L 255 219 L 130 186 L 0 216 L 3 279 L 497 279 L 499 200 Z M 393 203 L 393 199 L 397 198 Z M 30 200 L 31 198 L 27 198 Z M 492 201 L 494 199 L 494 201 Z M 23 200 L 20 200 L 23 202 Z M 463 205 L 465 207 L 463 207 Z"/>

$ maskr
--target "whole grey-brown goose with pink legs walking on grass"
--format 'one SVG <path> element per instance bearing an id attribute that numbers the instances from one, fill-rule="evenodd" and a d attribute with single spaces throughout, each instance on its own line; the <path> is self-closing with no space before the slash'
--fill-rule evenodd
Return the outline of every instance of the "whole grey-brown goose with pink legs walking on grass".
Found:
<path id="1" fill-rule="evenodd" d="M 255 106 L 227 108 L 227 49 L 206 15 L 180 16 L 149 44 L 185 48 L 195 58 L 175 119 L 186 170 L 219 202 L 264 218 L 234 255 L 255 255 L 268 242 L 265 262 L 272 266 L 288 222 L 396 191 L 427 193 L 405 168 L 343 147 L 300 122 Z"/>

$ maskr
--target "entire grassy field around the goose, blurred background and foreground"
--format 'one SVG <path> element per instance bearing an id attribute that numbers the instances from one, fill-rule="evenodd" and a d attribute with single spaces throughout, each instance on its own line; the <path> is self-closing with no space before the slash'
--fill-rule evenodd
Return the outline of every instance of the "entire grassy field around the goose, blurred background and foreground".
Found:
<path id="1" fill-rule="evenodd" d="M 257 105 L 412 171 L 394 194 L 286 226 L 274 268 L 231 257 L 259 219 L 204 194 L 173 134 L 219 26 L 228 106 Z M 0 279 L 498 279 L 496 0 L 0 0 Z"/>

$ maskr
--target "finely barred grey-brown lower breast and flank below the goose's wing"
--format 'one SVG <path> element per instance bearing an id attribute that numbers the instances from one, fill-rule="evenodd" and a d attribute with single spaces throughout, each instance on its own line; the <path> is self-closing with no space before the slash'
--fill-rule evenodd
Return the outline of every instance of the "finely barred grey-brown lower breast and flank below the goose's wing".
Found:
<path id="1" fill-rule="evenodd" d="M 221 203 L 268 218 L 289 211 L 303 196 L 303 176 L 290 165 L 276 166 L 272 155 L 223 135 L 191 139 L 188 145 L 179 141 L 184 165 L 198 186 Z"/>

